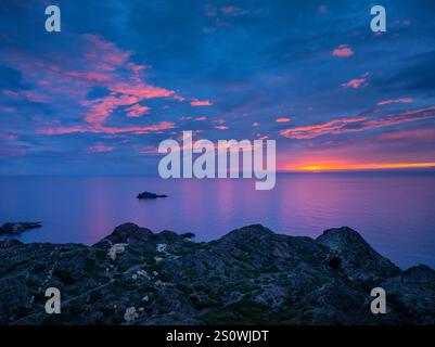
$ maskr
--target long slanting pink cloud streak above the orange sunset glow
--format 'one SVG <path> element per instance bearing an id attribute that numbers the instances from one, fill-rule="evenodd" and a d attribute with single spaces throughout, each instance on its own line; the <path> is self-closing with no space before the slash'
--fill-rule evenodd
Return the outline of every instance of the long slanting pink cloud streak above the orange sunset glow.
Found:
<path id="1" fill-rule="evenodd" d="M 336 118 L 322 124 L 285 129 L 282 130 L 280 134 L 289 139 L 306 140 L 325 134 L 359 132 L 433 117 L 435 117 L 435 106 L 430 106 L 426 108 L 391 114 L 380 118 L 370 117 L 369 114 L 347 118 Z"/>

